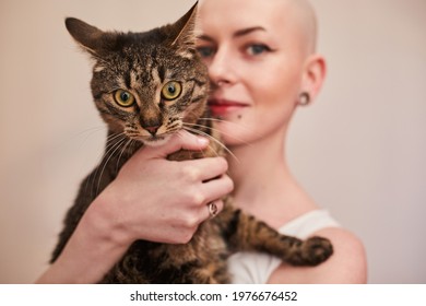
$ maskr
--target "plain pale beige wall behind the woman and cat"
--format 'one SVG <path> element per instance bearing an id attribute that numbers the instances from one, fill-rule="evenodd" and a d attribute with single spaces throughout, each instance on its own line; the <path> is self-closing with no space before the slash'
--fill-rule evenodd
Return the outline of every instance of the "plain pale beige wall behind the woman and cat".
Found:
<path id="1" fill-rule="evenodd" d="M 0 283 L 46 269 L 103 150 L 90 66 L 63 17 L 142 31 L 192 3 L 0 0 Z M 329 75 L 293 122 L 293 169 L 364 240 L 370 283 L 426 283 L 426 1 L 312 3 Z"/>

